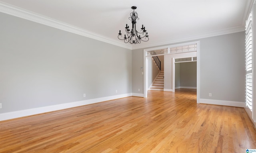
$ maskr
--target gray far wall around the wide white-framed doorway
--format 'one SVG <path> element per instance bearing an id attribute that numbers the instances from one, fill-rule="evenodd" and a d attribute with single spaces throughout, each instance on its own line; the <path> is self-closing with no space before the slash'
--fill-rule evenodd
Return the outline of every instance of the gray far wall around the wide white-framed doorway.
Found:
<path id="1" fill-rule="evenodd" d="M 244 39 L 244 32 L 198 39 L 200 40 L 200 98 L 244 102 Z M 132 53 L 141 55 L 136 59 L 143 61 L 143 49 L 133 50 Z M 136 59 L 133 59 L 133 62 L 137 62 Z M 166 70 L 166 65 L 164 66 Z M 138 73 L 139 71 L 133 67 L 132 75 Z M 133 82 L 138 82 L 137 86 L 143 86 L 143 78 L 135 79 Z M 212 97 L 209 97 L 208 93 L 212 93 Z"/>

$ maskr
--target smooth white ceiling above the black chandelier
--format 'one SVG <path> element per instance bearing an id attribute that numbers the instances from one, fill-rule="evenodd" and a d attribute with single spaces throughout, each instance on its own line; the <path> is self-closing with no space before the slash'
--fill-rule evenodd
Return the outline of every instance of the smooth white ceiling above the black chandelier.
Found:
<path id="1" fill-rule="evenodd" d="M 118 32 L 124 31 L 126 24 L 131 25 L 131 6 L 137 6 L 137 26 L 146 27 L 149 41 L 126 44 L 136 49 L 243 31 L 252 0 L 0 0 L 0 4 L 80 27 L 118 43 L 124 43 L 117 38 Z"/>

